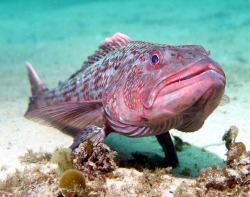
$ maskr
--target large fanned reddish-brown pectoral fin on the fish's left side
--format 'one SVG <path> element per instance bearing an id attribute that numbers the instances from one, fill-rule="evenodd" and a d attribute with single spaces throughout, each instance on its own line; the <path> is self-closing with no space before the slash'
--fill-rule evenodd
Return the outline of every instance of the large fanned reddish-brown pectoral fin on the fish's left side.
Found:
<path id="1" fill-rule="evenodd" d="M 76 136 L 87 125 L 100 120 L 102 115 L 102 101 L 95 100 L 49 105 L 28 111 L 25 117 Z"/>

